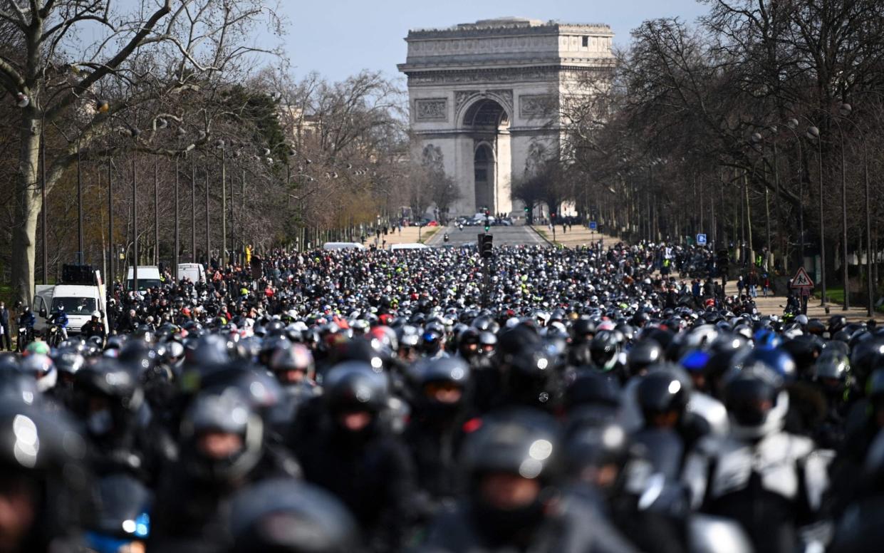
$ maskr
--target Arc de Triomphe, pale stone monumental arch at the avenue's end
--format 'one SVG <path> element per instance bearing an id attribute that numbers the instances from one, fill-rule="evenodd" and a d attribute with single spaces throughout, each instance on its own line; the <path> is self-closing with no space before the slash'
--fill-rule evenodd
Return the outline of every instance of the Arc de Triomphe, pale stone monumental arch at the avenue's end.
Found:
<path id="1" fill-rule="evenodd" d="M 520 18 L 408 32 L 411 156 L 453 177 L 452 214 L 521 209 L 513 180 L 557 153 L 561 99 L 613 67 L 612 40 L 606 25 Z"/>

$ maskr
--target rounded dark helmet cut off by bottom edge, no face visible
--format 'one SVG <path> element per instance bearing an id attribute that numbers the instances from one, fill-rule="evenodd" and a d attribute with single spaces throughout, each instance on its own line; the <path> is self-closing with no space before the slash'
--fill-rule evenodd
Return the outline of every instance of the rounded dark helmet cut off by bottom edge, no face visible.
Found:
<path id="1" fill-rule="evenodd" d="M 338 498 L 291 479 L 263 480 L 231 502 L 230 553 L 349 553 L 359 530 Z"/>

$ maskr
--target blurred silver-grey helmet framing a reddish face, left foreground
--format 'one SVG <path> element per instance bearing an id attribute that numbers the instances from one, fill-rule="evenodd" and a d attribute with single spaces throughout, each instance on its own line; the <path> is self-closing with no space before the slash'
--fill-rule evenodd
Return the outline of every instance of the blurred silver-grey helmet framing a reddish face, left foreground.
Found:
<path id="1" fill-rule="evenodd" d="M 216 434 L 239 436 L 238 448 L 213 451 L 208 439 Z M 204 480 L 241 478 L 263 454 L 261 417 L 232 389 L 196 396 L 181 421 L 180 436 L 187 470 Z"/>

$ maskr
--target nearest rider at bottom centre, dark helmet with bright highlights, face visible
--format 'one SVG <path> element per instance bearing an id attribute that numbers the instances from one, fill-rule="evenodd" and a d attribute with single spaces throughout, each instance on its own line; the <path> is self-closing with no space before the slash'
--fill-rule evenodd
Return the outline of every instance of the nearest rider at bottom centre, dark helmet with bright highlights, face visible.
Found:
<path id="1" fill-rule="evenodd" d="M 425 551 L 630 551 L 598 547 L 598 515 L 562 495 L 560 439 L 538 411 L 502 411 L 464 444 L 469 494 L 431 525 Z"/>

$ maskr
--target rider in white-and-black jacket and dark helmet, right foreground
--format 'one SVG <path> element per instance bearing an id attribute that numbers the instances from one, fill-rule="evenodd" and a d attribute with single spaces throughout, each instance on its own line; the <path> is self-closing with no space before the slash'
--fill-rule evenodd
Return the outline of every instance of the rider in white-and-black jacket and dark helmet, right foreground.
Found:
<path id="1" fill-rule="evenodd" d="M 728 375 L 729 434 L 697 444 L 684 470 L 690 503 L 738 521 L 758 551 L 798 546 L 798 528 L 813 523 L 827 488 L 827 457 L 813 442 L 781 430 L 789 396 L 782 378 L 761 363 Z"/>

